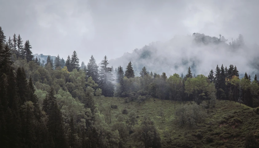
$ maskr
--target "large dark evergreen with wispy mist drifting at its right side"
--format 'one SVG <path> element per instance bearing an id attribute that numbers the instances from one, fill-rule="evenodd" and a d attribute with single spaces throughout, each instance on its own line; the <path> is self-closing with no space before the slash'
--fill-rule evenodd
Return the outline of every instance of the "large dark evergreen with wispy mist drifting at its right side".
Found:
<path id="1" fill-rule="evenodd" d="M 114 94 L 114 85 L 112 84 L 114 79 L 112 78 L 112 68 L 109 68 L 108 64 L 108 59 L 105 56 L 101 63 L 99 86 L 104 96 L 111 97 Z"/>

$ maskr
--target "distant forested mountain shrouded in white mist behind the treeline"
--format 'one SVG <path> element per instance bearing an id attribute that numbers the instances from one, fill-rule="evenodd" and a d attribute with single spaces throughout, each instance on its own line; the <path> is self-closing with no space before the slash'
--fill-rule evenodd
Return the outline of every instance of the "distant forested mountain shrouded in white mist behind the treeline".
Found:
<path id="1" fill-rule="evenodd" d="M 153 42 L 141 49 L 135 49 L 132 53 L 124 53 L 123 56 L 111 59 L 108 62 L 114 69 L 118 66 L 126 68 L 131 61 L 135 74 L 145 66 L 149 72 L 161 74 L 166 72 L 167 76 L 187 72 L 190 66 L 193 74 L 208 75 L 216 66 L 229 68 L 236 65 L 242 71 L 240 76 L 248 72 L 251 76 L 258 73 L 259 47 L 249 48 L 245 45 L 242 35 L 228 42 L 224 36 L 220 38 L 210 37 L 200 33 L 188 36 L 175 36 L 167 42 Z"/>

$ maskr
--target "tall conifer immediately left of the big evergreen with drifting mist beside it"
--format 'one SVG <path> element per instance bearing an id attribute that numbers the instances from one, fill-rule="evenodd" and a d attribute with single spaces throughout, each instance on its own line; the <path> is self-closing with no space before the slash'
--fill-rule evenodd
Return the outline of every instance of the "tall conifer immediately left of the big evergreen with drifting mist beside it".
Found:
<path id="1" fill-rule="evenodd" d="M 88 72 L 87 72 L 87 76 L 88 77 L 92 77 L 92 80 L 95 83 L 98 83 L 98 77 L 99 77 L 99 72 L 98 72 L 98 67 L 96 64 L 96 61 L 94 59 L 93 56 L 91 56 L 91 59 L 89 60 L 88 64 L 87 64 L 87 68 L 88 68 Z"/>

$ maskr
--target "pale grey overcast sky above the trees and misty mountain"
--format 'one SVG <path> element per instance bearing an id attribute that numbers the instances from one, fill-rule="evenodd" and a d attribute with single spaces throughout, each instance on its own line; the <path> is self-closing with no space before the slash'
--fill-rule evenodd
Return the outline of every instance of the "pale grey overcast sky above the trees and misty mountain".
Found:
<path id="1" fill-rule="evenodd" d="M 120 57 L 152 41 L 194 32 L 259 41 L 258 0 L 0 0 L 7 37 L 29 39 L 33 54 L 85 63 Z"/>

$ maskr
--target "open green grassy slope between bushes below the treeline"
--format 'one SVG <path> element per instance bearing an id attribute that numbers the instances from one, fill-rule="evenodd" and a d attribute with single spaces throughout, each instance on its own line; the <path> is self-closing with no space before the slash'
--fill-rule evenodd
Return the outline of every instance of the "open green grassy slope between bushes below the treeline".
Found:
<path id="1" fill-rule="evenodd" d="M 100 101 L 96 99 L 97 108 L 98 102 Z M 131 102 L 124 103 L 123 98 L 115 97 L 105 97 L 101 102 L 106 106 L 112 104 L 118 106 L 118 109 L 112 109 L 111 111 L 112 123 L 108 122 L 110 125 L 116 122 L 116 115 L 122 114 L 123 109 L 127 109 L 128 113 L 131 111 L 136 112 L 139 116 L 137 118 L 139 124 L 144 116 L 149 116 L 155 122 L 161 137 L 162 147 L 244 147 L 244 138 L 249 131 L 253 131 L 256 139 L 259 139 L 259 115 L 255 113 L 255 109 L 242 104 L 240 106 L 239 103 L 235 102 L 217 100 L 215 108 L 210 107 L 208 109 L 209 113 L 206 113 L 207 118 L 205 122 L 198 123 L 195 128 L 180 127 L 175 122 L 175 107 L 178 108 L 180 102 L 176 102 L 174 105 L 171 101 L 164 100 L 162 105 L 161 100 L 151 98 L 139 105 L 136 102 L 132 104 Z M 181 105 L 183 105 L 182 102 Z M 163 123 L 159 116 L 160 108 L 163 108 L 166 115 Z M 123 116 L 127 117 L 127 115 Z M 212 125 L 209 125 L 209 122 L 212 122 Z M 172 132 L 172 142 L 163 137 L 163 131 L 165 130 Z M 203 138 L 198 139 L 195 136 L 197 133 L 201 133 Z M 213 142 L 209 142 L 207 139 L 213 139 Z M 127 139 L 125 146 L 134 147 L 134 141 L 131 136 Z"/>

